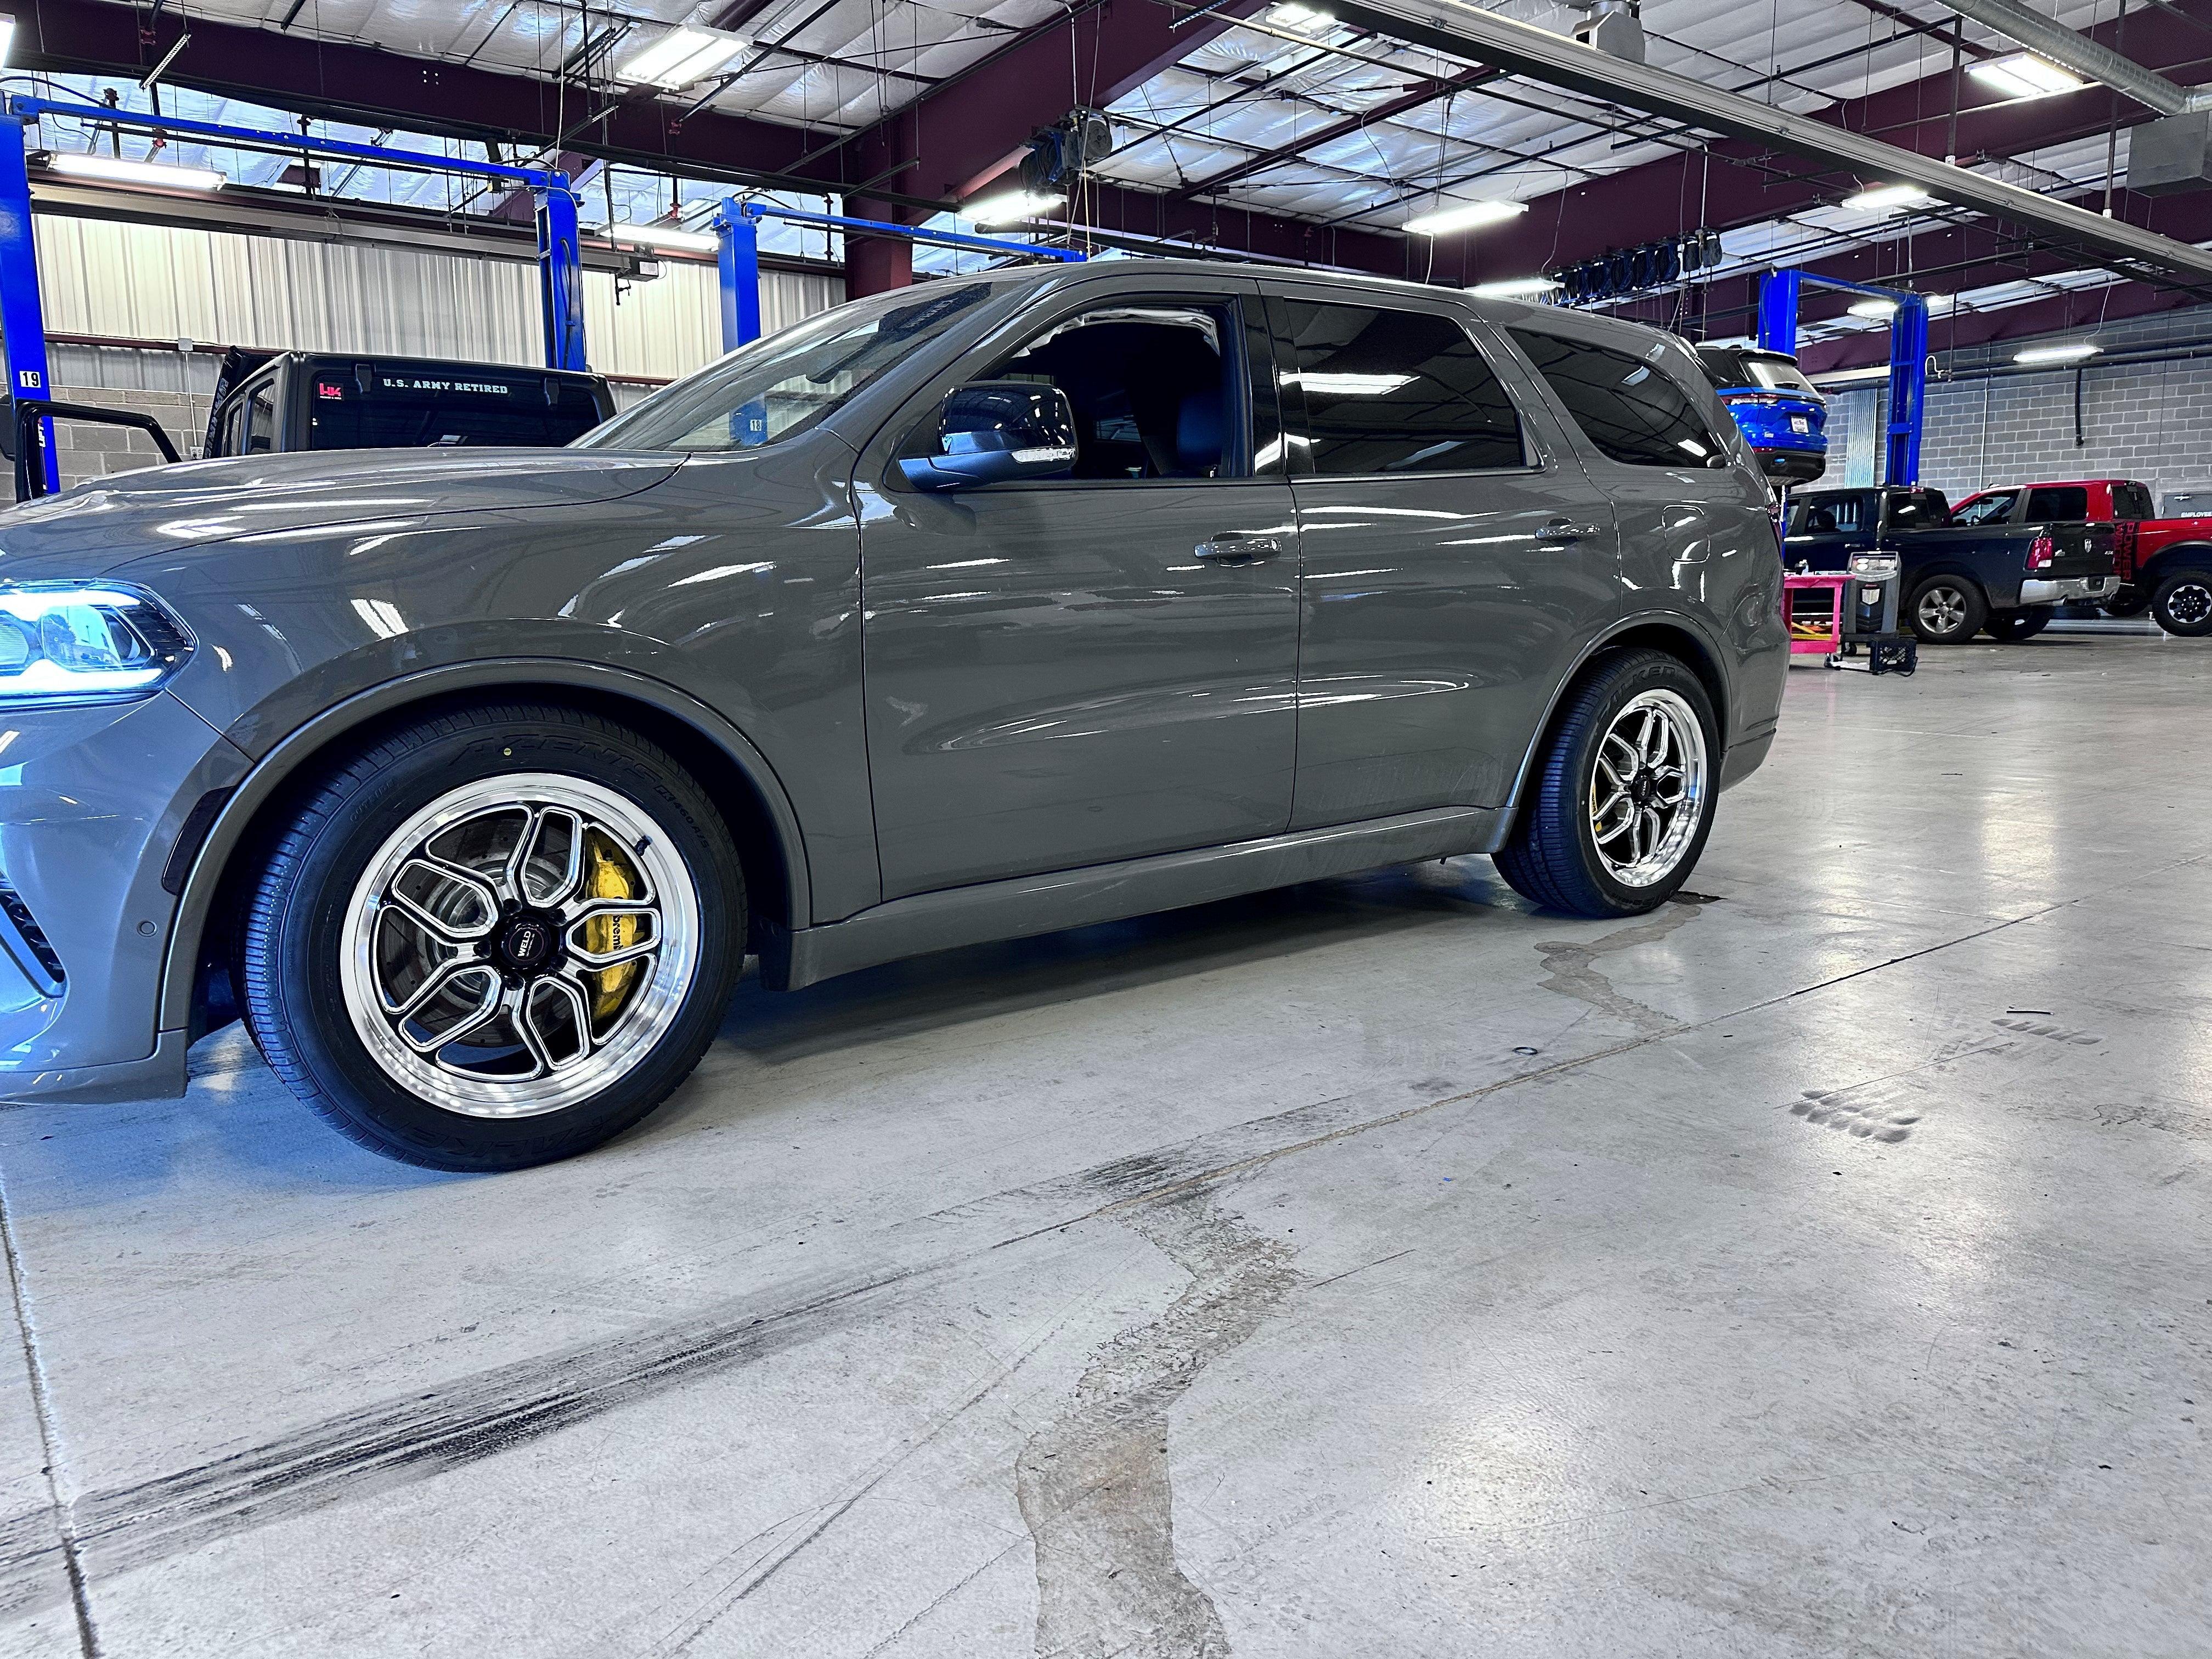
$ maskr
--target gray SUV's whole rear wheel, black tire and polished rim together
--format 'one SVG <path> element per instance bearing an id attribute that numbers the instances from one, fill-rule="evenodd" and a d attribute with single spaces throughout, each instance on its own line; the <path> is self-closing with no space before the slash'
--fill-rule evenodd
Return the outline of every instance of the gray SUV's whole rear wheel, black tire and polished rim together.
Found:
<path id="1" fill-rule="evenodd" d="M 1641 916 L 1688 880 L 1719 799 L 1712 699 L 1677 657 L 1624 650 L 1568 699 L 1498 872 L 1575 916 Z"/>

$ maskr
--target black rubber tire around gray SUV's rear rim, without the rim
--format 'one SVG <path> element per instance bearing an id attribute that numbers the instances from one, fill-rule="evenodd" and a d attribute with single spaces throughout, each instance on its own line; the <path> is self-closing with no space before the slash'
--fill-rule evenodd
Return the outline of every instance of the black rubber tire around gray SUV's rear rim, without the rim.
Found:
<path id="1" fill-rule="evenodd" d="M 1681 841 L 1672 867 L 1646 885 L 1628 885 L 1608 867 L 1597 847 L 1593 807 L 1599 805 L 1597 750 L 1613 721 L 1646 692 L 1672 692 L 1697 717 L 1703 737 L 1703 770 L 1697 816 Z M 1712 810 L 1721 796 L 1721 734 L 1712 699 L 1679 657 L 1661 650 L 1621 650 L 1599 657 L 1564 703 L 1564 712 L 1528 781 L 1528 799 L 1513 825 L 1513 838 L 1495 854 L 1502 874 L 1522 898 L 1571 916 L 1644 916 L 1659 909 L 1688 880 L 1712 834 Z"/>

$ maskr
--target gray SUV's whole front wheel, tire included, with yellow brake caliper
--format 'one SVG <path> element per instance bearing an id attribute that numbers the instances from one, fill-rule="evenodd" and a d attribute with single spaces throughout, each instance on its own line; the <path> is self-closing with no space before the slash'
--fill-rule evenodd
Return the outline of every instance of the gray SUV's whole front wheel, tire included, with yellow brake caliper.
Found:
<path id="1" fill-rule="evenodd" d="M 270 1066 L 407 1164 L 509 1170 L 641 1119 L 743 964 L 745 887 L 666 752 L 553 706 L 409 726 L 276 838 L 239 980 Z"/>

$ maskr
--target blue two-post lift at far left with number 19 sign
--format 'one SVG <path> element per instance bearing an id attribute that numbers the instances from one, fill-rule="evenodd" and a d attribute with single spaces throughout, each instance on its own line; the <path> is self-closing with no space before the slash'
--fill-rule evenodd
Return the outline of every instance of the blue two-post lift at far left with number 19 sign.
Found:
<path id="1" fill-rule="evenodd" d="M 175 115 L 77 104 L 55 97 L 0 97 L 0 338 L 7 347 L 7 383 L 15 398 L 49 398 L 46 316 L 38 299 L 38 246 L 31 239 L 29 128 L 40 115 L 66 115 L 102 126 L 142 133 L 173 133 L 212 144 L 237 144 L 279 155 L 336 155 L 369 166 L 409 173 L 465 173 L 500 179 L 531 192 L 538 204 L 538 301 L 544 312 L 544 356 L 551 369 L 582 369 L 584 358 L 584 254 L 577 241 L 577 201 L 560 173 L 471 161 L 429 150 L 396 150 L 383 144 L 270 133 L 254 126 L 188 122 Z M 58 484 L 53 442 L 44 445 L 46 489 Z"/>

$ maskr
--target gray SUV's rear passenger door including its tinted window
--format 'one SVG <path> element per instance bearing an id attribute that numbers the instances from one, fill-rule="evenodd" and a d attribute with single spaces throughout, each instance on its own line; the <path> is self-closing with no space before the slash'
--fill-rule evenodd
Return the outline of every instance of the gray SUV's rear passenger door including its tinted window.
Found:
<path id="1" fill-rule="evenodd" d="M 1615 602 L 1613 513 L 1460 307 L 1296 283 L 1270 307 L 1305 557 L 1292 823 L 1500 805 Z"/>

